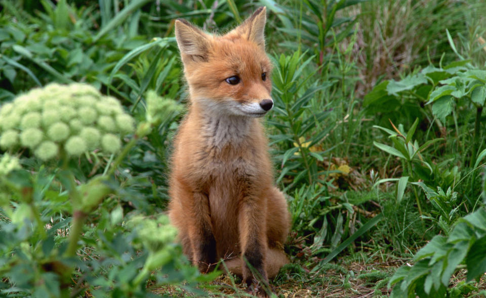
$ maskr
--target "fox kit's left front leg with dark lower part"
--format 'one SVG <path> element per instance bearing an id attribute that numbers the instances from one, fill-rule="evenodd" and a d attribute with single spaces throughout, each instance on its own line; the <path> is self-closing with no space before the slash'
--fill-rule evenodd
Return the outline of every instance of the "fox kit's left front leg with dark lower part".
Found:
<path id="1" fill-rule="evenodd" d="M 216 265 L 216 239 L 214 238 L 207 195 L 194 192 L 192 208 L 193 224 L 189 230 L 193 264 L 201 273 L 207 273 Z"/>

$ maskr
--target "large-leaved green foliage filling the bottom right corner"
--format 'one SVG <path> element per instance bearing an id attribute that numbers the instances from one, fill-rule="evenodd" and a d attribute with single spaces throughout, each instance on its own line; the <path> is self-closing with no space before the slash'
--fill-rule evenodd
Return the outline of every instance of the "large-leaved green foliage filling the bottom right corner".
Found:
<path id="1" fill-rule="evenodd" d="M 390 297 L 446 296 L 451 276 L 464 264 L 466 281 L 486 272 L 486 210 L 461 218 L 448 237 L 437 235 L 415 255 L 412 267 L 400 267 L 390 279 Z M 464 268 L 462 267 L 462 268 Z M 462 287 L 464 290 L 464 286 Z M 457 289 L 452 291 L 456 295 Z"/>

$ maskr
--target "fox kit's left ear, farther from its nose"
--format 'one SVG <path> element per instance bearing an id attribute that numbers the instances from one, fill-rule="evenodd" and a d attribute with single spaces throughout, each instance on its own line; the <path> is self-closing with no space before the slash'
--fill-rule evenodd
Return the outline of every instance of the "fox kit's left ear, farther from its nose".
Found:
<path id="1" fill-rule="evenodd" d="M 208 35 L 184 19 L 177 19 L 175 24 L 176 40 L 181 55 L 191 56 L 193 60 L 208 59 Z"/>

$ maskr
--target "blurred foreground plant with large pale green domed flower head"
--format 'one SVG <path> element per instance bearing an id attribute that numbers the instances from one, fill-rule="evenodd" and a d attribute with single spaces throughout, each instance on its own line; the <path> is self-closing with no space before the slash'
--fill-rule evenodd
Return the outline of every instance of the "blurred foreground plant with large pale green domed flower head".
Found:
<path id="1" fill-rule="evenodd" d="M 12 152 L 28 147 L 35 157 L 59 163 L 59 169 L 47 164 L 31 172 L 16 157 L 4 154 L 0 159 L 0 205 L 6 219 L 0 224 L 3 295 L 68 297 L 109 291 L 117 297 L 145 297 L 151 296 L 145 287 L 149 279 L 161 285 L 212 278 L 199 277 L 184 261 L 166 215 L 128 214 L 119 201 L 124 191 L 115 171 L 137 140 L 174 111 L 167 103 L 149 100 L 147 121 L 136 130 L 116 100 L 88 85 L 51 84 L 2 106 L 2 115 L 19 118 L 2 122 L 2 146 Z M 117 132 L 134 134 L 122 148 L 113 134 Z M 99 155 L 112 154 L 110 163 L 103 174 L 80 182 L 72 162 L 95 148 Z M 102 218 L 96 220 L 97 214 Z"/>

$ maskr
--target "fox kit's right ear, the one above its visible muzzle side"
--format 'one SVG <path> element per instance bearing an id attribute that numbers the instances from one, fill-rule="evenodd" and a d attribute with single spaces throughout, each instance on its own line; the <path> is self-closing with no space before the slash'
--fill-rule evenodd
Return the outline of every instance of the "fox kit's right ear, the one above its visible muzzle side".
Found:
<path id="1" fill-rule="evenodd" d="M 266 7 L 257 9 L 251 17 L 245 20 L 234 30 L 265 48 L 265 23 L 267 21 Z"/>

